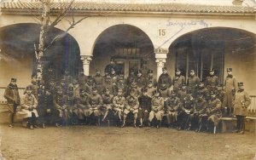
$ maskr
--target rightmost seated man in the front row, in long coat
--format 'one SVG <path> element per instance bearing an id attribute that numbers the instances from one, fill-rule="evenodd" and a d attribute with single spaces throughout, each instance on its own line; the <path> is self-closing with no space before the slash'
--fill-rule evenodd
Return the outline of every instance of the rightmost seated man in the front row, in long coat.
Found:
<path id="1" fill-rule="evenodd" d="M 219 120 L 221 118 L 221 101 L 216 98 L 215 92 L 211 92 L 211 99 L 208 101 L 207 106 L 207 130 L 212 126 L 213 123 L 213 134 L 216 133 L 216 127 L 218 126 Z"/>

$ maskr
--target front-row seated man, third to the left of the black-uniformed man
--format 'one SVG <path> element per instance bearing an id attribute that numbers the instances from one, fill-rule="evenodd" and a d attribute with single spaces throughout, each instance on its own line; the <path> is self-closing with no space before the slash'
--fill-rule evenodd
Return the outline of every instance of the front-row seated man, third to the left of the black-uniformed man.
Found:
<path id="1" fill-rule="evenodd" d="M 105 88 L 103 90 L 102 94 L 102 121 L 104 121 L 106 118 L 108 119 L 108 126 L 109 126 L 109 120 L 113 119 L 113 94 L 110 94 L 110 91 L 108 88 Z"/>

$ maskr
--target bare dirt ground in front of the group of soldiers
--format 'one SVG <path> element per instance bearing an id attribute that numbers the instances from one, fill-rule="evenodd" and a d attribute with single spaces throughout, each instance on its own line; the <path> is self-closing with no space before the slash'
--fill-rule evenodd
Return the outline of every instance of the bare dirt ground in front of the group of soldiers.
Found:
<path id="1" fill-rule="evenodd" d="M 1 124 L 0 159 L 256 159 L 256 134 L 73 126 L 11 129 Z"/>

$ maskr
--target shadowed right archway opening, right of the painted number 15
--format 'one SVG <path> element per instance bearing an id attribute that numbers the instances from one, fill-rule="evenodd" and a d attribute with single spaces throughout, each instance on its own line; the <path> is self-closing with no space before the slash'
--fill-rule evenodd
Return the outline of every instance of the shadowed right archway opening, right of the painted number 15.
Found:
<path id="1" fill-rule="evenodd" d="M 189 69 L 195 69 L 202 80 L 213 67 L 220 77 L 219 83 L 224 83 L 225 68 L 231 67 L 238 81 L 251 85 L 256 77 L 245 70 L 256 72 L 255 43 L 253 32 L 235 27 L 219 26 L 190 31 L 170 45 L 167 65 L 172 70 L 183 68 L 186 77 Z M 256 89 L 247 89 L 256 93 Z"/>

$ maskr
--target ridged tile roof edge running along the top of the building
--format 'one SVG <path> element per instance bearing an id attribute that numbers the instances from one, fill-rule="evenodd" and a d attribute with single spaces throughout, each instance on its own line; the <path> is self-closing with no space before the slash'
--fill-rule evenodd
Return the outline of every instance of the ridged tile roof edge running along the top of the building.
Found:
<path id="1" fill-rule="evenodd" d="M 15 9 L 39 9 L 41 3 L 3 3 L 2 12 Z M 256 10 L 244 6 L 209 6 L 178 3 L 73 3 L 77 11 L 120 11 L 120 12 L 166 12 L 166 13 L 223 13 L 255 14 Z M 52 9 L 60 9 L 59 3 L 52 3 Z"/>

